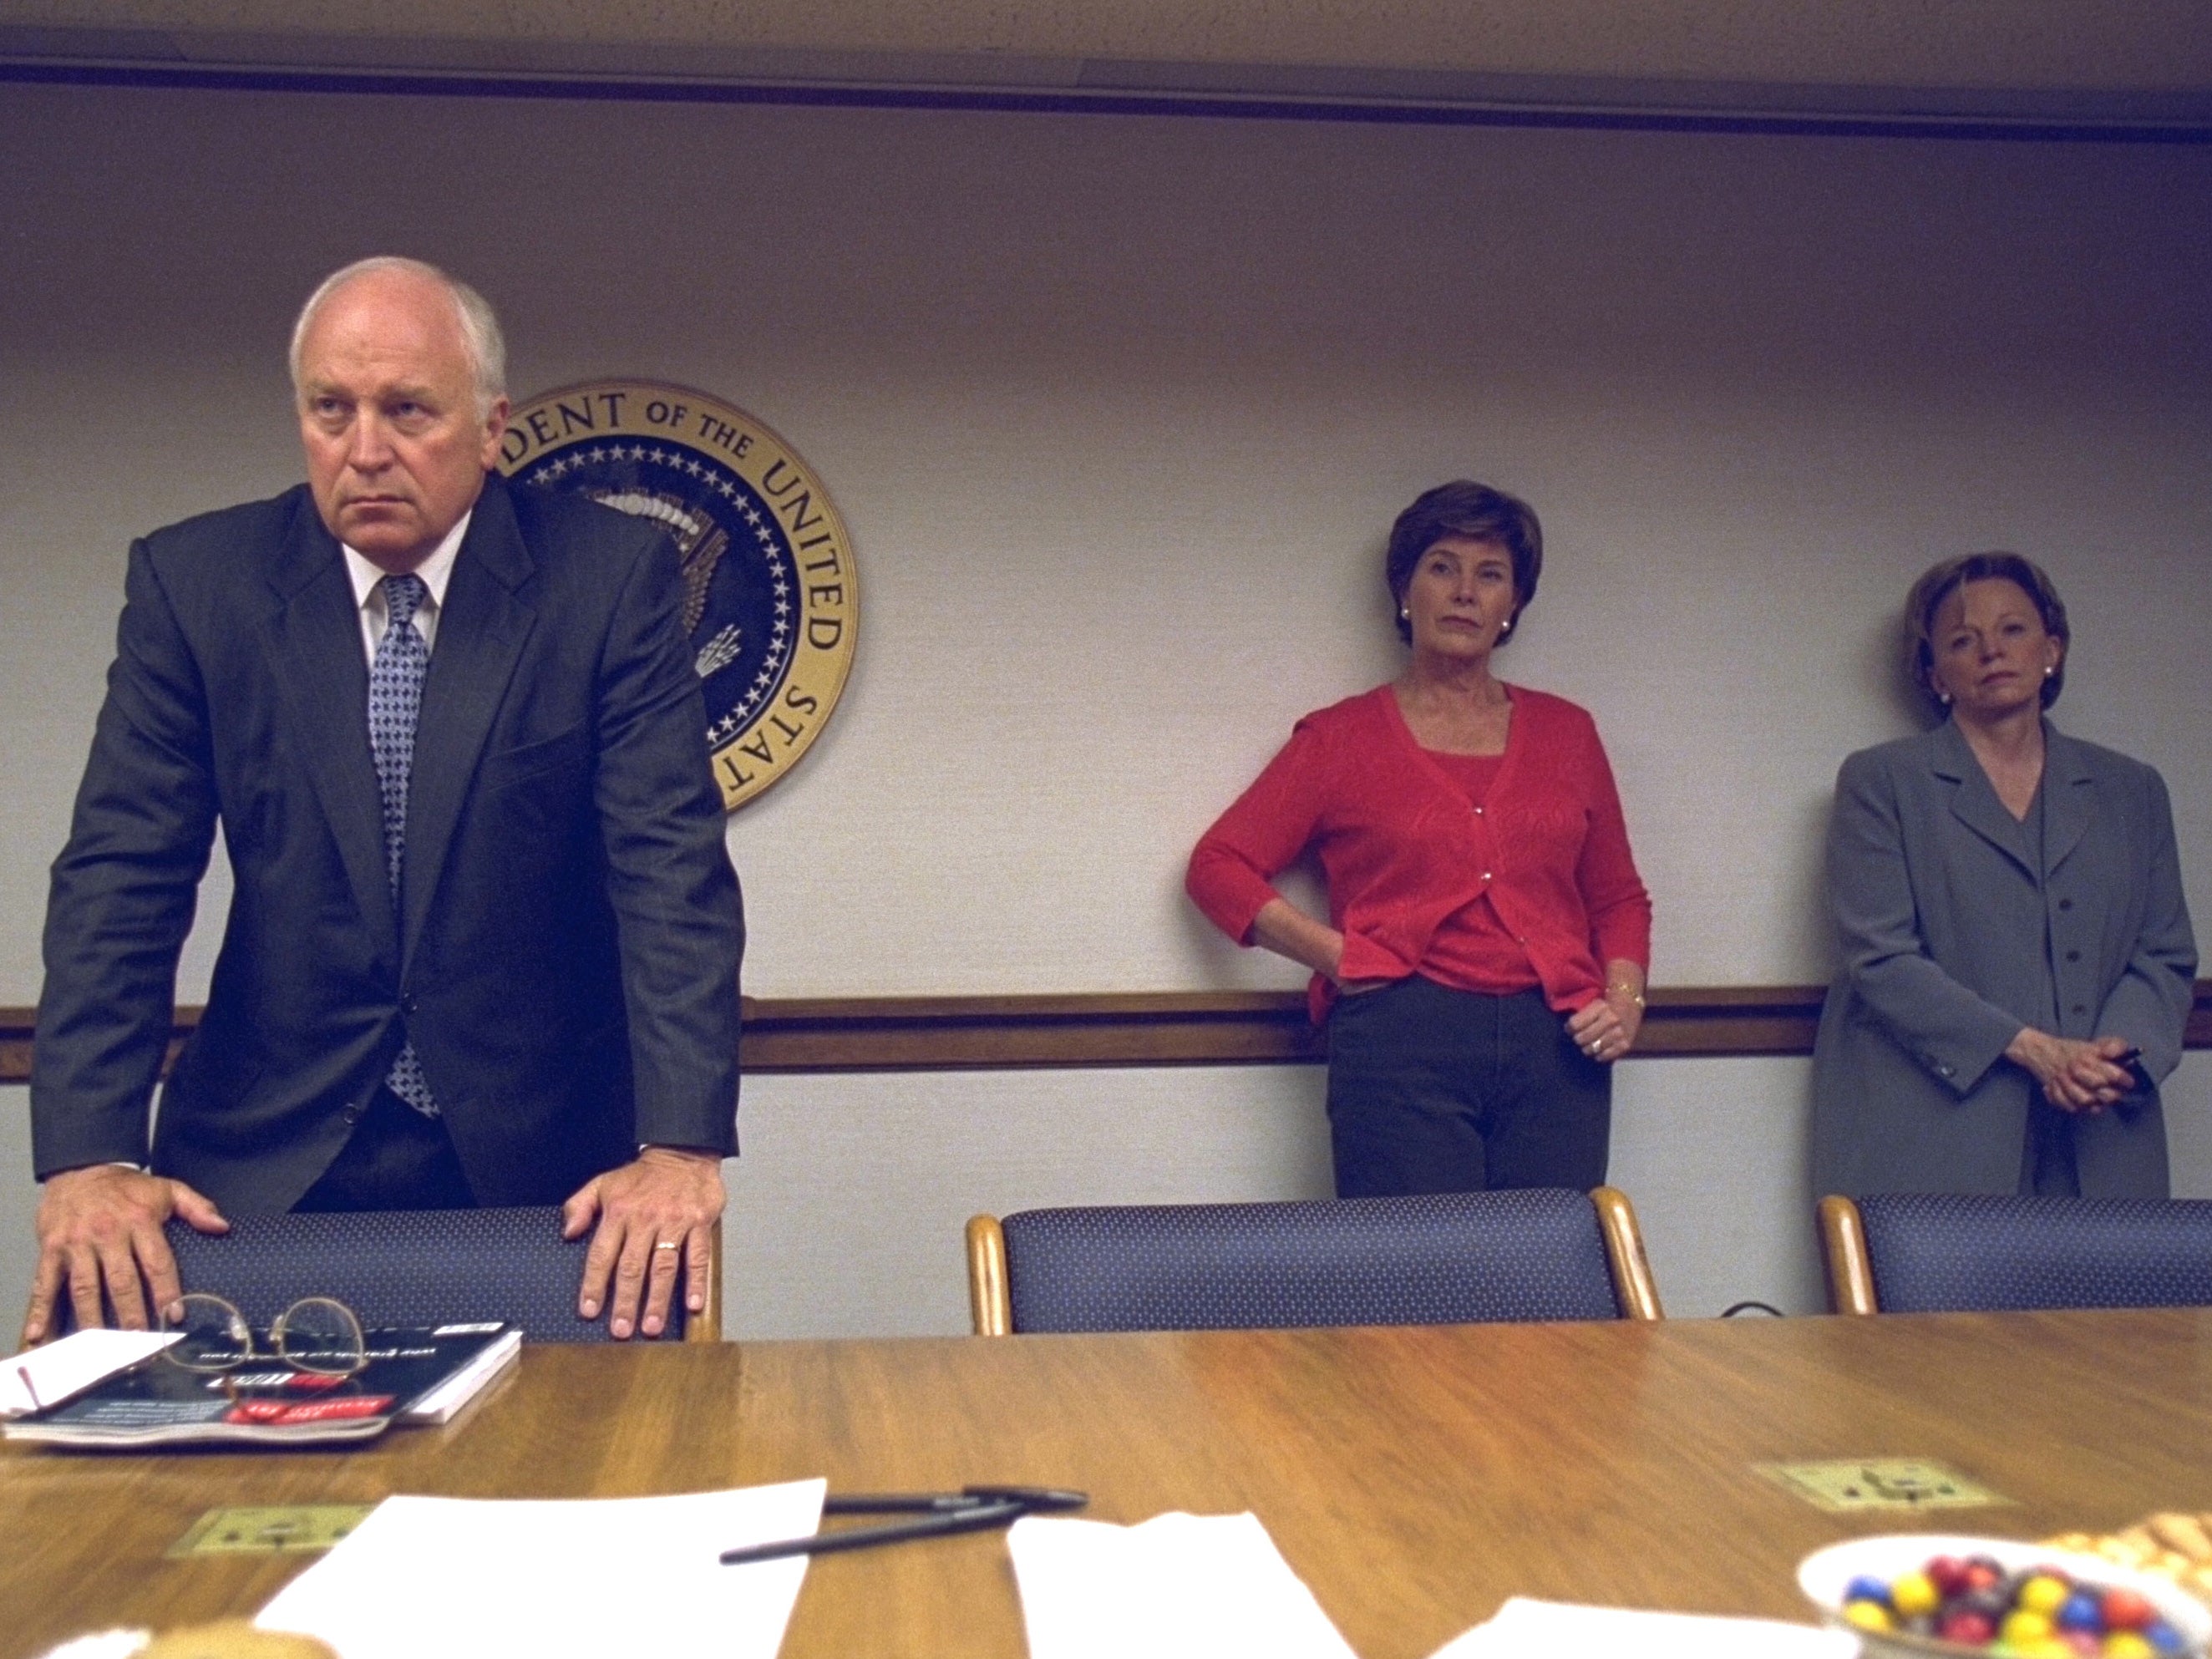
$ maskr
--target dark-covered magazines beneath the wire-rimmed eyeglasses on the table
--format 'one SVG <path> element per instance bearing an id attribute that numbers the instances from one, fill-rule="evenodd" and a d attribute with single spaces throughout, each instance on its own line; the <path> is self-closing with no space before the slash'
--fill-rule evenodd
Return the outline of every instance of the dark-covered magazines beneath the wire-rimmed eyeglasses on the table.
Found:
<path id="1" fill-rule="evenodd" d="M 451 1420 L 520 1352 L 522 1329 L 502 1323 L 363 1332 L 365 1363 L 352 1376 L 292 1369 L 265 1354 L 210 1374 L 155 1352 L 11 1418 L 4 1433 L 95 1451 L 372 1440 L 394 1422 Z"/>

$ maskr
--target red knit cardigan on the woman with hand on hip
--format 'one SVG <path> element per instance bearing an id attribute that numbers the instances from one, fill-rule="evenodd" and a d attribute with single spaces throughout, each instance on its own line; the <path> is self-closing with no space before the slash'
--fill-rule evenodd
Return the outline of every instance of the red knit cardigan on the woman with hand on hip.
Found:
<path id="1" fill-rule="evenodd" d="M 1250 945 L 1272 878 L 1314 847 L 1343 978 L 1400 980 L 1449 916 L 1489 894 L 1546 1002 L 1584 1006 L 1606 962 L 1650 962 L 1652 902 L 1597 723 L 1564 697 L 1506 695 L 1513 726 L 1482 807 L 1420 748 L 1389 686 L 1307 714 L 1190 854 L 1190 898 Z M 1332 995 L 1316 973 L 1316 1024 Z"/>

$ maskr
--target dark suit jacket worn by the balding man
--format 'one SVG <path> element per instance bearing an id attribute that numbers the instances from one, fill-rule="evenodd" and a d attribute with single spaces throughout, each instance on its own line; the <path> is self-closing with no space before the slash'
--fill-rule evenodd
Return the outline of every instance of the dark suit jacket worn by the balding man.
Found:
<path id="1" fill-rule="evenodd" d="M 489 478 L 453 562 L 396 909 L 367 664 L 305 487 L 133 544 L 53 865 L 40 1177 L 144 1159 L 217 825 L 230 922 L 153 1168 L 290 1208 L 411 1035 L 482 1203 L 551 1203 L 639 1141 L 734 1150 L 743 916 L 668 540 Z"/>

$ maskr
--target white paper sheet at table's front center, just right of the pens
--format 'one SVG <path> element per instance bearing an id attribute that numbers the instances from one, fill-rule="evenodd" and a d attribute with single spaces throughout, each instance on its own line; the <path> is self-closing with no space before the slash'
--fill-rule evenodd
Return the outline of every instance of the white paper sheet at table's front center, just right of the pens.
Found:
<path id="1" fill-rule="evenodd" d="M 1024 1515 L 1006 1551 L 1029 1659 L 1354 1659 L 1256 1515 Z"/>

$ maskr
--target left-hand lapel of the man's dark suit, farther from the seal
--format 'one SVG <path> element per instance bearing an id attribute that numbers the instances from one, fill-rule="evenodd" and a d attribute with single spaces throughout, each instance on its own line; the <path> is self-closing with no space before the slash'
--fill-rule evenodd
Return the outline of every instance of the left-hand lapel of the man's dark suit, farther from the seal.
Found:
<path id="1" fill-rule="evenodd" d="M 385 807 L 369 752 L 369 666 L 345 555 L 301 491 L 270 573 L 279 606 L 261 624 L 299 759 L 338 841 L 354 902 L 383 956 L 398 956 L 392 878 L 385 874 Z"/>

